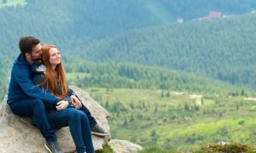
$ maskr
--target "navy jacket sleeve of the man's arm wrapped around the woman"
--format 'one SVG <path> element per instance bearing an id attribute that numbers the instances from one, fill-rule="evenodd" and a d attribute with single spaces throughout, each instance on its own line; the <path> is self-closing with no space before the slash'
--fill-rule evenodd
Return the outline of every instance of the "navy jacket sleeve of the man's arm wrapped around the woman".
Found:
<path id="1" fill-rule="evenodd" d="M 26 68 L 19 67 L 19 73 L 15 75 L 15 81 L 20 85 L 20 88 L 30 97 L 36 99 L 43 99 L 44 102 L 56 105 L 61 99 L 57 99 L 53 94 L 48 91 L 43 91 L 34 85 L 32 78 L 30 77 L 30 72 Z"/>

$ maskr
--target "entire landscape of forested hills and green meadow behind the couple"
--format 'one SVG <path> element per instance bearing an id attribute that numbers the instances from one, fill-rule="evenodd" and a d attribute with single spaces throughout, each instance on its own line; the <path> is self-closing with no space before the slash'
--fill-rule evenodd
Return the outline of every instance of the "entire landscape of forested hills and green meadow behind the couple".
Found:
<path id="1" fill-rule="evenodd" d="M 163 150 L 256 144 L 255 8 L 255 0 L 0 0 L 0 99 L 19 38 L 32 35 L 61 50 L 68 83 L 110 112 L 115 138 Z M 225 17 L 197 20 L 212 10 Z"/>

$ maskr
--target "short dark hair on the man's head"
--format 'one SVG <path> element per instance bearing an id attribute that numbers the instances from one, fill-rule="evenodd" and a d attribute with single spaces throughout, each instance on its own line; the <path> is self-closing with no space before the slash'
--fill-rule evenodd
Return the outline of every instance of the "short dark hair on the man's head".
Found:
<path id="1" fill-rule="evenodd" d="M 22 54 L 32 54 L 32 48 L 36 46 L 40 40 L 36 37 L 20 37 L 19 48 Z"/>

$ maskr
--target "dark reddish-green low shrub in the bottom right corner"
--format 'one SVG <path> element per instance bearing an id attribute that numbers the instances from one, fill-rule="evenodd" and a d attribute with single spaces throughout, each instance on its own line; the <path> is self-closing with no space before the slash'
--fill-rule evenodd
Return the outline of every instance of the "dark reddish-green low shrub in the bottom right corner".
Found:
<path id="1" fill-rule="evenodd" d="M 206 144 L 201 147 L 198 152 L 204 153 L 253 153 L 256 152 L 256 148 L 248 146 L 247 144 L 231 143 L 231 144 Z"/>

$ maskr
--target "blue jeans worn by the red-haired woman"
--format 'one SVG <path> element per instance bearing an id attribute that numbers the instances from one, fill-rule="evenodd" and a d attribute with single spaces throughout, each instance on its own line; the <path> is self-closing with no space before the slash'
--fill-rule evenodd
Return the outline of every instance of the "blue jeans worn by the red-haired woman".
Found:
<path id="1" fill-rule="evenodd" d="M 53 109 L 48 110 L 47 115 L 49 118 L 49 124 L 54 129 L 60 129 L 61 127 L 67 126 L 69 127 L 73 141 L 76 145 L 76 150 L 79 153 L 84 153 L 85 150 L 86 153 L 91 153 L 94 152 L 94 148 L 90 135 L 89 117 L 82 110 L 88 111 L 83 105 L 83 108 L 80 110 L 73 107 L 69 107 L 61 111 L 56 111 Z"/>

